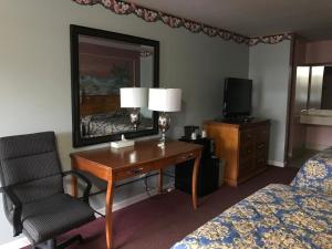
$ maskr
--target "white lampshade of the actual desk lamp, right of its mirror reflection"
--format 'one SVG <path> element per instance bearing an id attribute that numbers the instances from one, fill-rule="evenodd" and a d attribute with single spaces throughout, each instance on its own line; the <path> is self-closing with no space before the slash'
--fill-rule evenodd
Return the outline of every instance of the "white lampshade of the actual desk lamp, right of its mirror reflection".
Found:
<path id="1" fill-rule="evenodd" d="M 181 110 L 181 90 L 149 89 L 148 108 L 158 112 L 179 112 Z"/>

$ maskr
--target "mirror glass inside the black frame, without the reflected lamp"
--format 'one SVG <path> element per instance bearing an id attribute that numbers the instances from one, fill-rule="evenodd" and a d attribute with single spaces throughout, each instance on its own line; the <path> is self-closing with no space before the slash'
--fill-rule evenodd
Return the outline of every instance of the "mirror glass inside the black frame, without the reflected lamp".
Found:
<path id="1" fill-rule="evenodd" d="M 120 87 L 153 87 L 152 46 L 79 37 L 80 115 L 83 138 L 133 131 Z M 152 111 L 142 108 L 141 129 L 153 128 Z"/>

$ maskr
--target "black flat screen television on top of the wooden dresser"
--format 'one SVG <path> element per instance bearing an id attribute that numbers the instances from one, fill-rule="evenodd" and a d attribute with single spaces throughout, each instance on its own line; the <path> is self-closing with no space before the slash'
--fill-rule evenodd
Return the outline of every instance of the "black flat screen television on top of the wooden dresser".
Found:
<path id="1" fill-rule="evenodd" d="M 251 113 L 252 81 L 227 77 L 224 87 L 224 116 L 246 117 Z"/>

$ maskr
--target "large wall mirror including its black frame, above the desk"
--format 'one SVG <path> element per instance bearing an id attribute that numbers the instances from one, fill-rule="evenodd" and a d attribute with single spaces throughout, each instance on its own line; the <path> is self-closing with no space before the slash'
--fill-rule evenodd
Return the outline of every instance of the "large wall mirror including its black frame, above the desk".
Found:
<path id="1" fill-rule="evenodd" d="M 74 147 L 157 134 L 157 113 L 147 107 L 134 131 L 120 89 L 158 87 L 158 41 L 71 25 L 71 63 Z"/>

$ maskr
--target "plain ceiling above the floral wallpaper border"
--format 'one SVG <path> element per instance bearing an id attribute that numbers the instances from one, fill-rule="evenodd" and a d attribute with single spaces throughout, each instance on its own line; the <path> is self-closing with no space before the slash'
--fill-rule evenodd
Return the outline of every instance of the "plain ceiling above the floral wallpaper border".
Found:
<path id="1" fill-rule="evenodd" d="M 248 37 L 332 38 L 332 0 L 127 0 Z"/>

